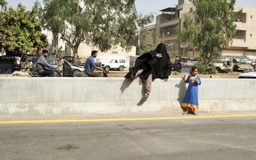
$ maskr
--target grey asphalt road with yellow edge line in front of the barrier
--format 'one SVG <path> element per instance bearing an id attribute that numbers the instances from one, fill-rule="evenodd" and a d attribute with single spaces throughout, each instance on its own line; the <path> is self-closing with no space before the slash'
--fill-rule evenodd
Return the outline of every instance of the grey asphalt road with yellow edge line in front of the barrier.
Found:
<path id="1" fill-rule="evenodd" d="M 2 121 L 19 118 L 2 117 L 0 159 L 256 159 L 256 115 L 207 116 L 80 116 L 68 119 L 107 120 L 59 123 L 49 122 L 67 118 L 21 118 L 49 121 L 12 124 Z M 130 117 L 153 119 L 109 119 Z"/>

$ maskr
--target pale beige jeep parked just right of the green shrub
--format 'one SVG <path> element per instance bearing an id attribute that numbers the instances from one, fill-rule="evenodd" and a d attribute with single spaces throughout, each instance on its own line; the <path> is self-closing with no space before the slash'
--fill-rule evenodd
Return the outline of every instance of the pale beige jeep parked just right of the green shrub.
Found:
<path id="1" fill-rule="evenodd" d="M 229 72 L 233 70 L 232 57 L 213 58 L 213 65 L 216 66 L 218 72 Z"/>

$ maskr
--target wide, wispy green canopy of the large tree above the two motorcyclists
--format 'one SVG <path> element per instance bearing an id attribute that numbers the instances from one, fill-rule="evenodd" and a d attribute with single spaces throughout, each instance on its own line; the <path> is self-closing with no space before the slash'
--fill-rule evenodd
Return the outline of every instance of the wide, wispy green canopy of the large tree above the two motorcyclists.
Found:
<path id="1" fill-rule="evenodd" d="M 81 42 L 107 51 L 114 45 L 130 50 L 138 42 L 138 27 L 152 22 L 153 14 L 138 15 L 135 0 L 44 0 L 42 22 L 60 34 L 77 57 Z"/>

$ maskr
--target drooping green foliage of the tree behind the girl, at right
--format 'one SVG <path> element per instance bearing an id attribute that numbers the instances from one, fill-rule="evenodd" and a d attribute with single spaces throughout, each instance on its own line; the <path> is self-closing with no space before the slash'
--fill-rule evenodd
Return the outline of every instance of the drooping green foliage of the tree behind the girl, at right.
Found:
<path id="1" fill-rule="evenodd" d="M 185 15 L 184 28 L 177 27 L 178 39 L 206 61 L 219 57 L 236 34 L 233 23 L 236 0 L 190 0 L 195 20 Z M 195 10 L 194 10 L 195 9 Z"/>

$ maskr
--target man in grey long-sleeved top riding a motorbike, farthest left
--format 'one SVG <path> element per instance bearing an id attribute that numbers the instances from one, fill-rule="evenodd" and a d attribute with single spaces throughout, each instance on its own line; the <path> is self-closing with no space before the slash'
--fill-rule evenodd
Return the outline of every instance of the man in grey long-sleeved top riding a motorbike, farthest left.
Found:
<path id="1" fill-rule="evenodd" d="M 47 56 L 48 56 L 48 50 L 43 50 L 42 56 L 36 61 L 36 72 L 38 72 L 43 76 L 53 77 L 55 72 L 53 72 L 52 70 L 46 69 L 46 67 L 54 68 L 54 69 L 56 69 L 56 67 L 46 62 L 45 57 Z"/>

